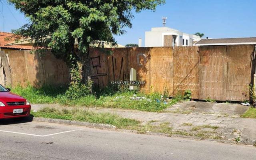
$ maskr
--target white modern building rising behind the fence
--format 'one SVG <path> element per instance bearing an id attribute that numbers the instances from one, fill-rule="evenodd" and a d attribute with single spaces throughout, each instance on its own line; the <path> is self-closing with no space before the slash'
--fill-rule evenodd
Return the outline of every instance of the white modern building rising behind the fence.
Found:
<path id="1" fill-rule="evenodd" d="M 199 40 L 199 36 L 168 27 L 151 28 L 145 32 L 145 47 L 193 46 Z"/>

